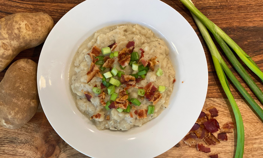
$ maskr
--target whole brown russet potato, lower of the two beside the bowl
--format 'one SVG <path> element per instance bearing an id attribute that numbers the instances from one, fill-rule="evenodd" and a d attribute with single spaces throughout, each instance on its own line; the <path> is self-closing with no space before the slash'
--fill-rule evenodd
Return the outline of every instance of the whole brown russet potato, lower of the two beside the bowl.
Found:
<path id="1" fill-rule="evenodd" d="M 17 129 L 34 116 L 38 105 L 37 64 L 30 59 L 17 60 L 0 82 L 0 124 Z"/>

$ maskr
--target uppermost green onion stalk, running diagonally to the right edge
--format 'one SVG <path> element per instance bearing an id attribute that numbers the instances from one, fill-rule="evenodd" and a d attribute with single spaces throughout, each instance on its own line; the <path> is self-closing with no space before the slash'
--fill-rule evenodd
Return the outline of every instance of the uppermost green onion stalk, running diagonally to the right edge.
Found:
<path id="1" fill-rule="evenodd" d="M 227 45 L 229 45 L 241 60 L 261 79 L 263 82 L 263 72 L 259 69 L 256 63 L 247 55 L 227 34 L 221 30 L 216 24 L 210 21 L 204 14 L 202 14 L 193 3 L 189 0 L 180 0 L 192 14 L 194 14 L 213 34 L 218 34 Z"/>

